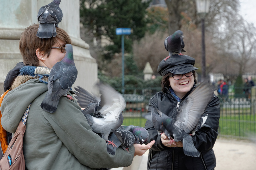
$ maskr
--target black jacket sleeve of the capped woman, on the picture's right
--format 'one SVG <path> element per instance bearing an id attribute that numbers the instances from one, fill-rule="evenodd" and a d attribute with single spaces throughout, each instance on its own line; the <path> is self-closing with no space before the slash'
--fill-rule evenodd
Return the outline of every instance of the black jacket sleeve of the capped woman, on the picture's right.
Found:
<path id="1" fill-rule="evenodd" d="M 204 115 L 208 114 L 205 122 L 210 127 L 203 126 L 192 136 L 195 147 L 198 151 L 208 151 L 213 148 L 218 136 L 220 119 L 220 100 L 214 95 L 205 109 Z"/>

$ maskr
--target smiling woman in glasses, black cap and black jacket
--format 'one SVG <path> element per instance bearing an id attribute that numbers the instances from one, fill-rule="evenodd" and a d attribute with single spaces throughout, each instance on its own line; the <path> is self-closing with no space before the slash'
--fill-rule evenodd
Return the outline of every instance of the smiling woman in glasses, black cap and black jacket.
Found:
<path id="1" fill-rule="evenodd" d="M 195 89 L 196 71 L 195 59 L 187 55 L 172 55 L 162 60 L 158 66 L 158 73 L 163 76 L 162 91 L 157 92 L 149 101 L 148 114 L 151 115 L 152 107 L 162 111 L 173 118 L 177 114 L 179 104 Z M 211 170 L 216 166 L 216 158 L 212 150 L 218 135 L 220 102 L 213 96 L 205 113 L 208 118 L 205 122 L 209 127 L 202 127 L 192 136 L 200 157 L 187 156 L 183 152 L 182 142 L 171 142 L 168 137 L 158 132 L 152 121 L 147 120 L 145 128 L 150 135 L 149 141 L 156 142 L 149 150 L 147 169 L 151 170 Z"/>

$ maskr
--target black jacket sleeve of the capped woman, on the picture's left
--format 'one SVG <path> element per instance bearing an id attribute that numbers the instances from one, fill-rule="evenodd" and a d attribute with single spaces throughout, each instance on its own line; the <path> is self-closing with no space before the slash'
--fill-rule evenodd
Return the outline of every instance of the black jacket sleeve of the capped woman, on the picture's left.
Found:
<path id="1" fill-rule="evenodd" d="M 148 113 L 147 113 L 148 117 L 151 117 L 152 107 L 155 107 L 155 108 L 158 109 L 157 94 L 154 95 L 149 101 L 149 107 L 148 107 Z M 155 140 L 155 143 L 151 148 L 152 150 L 163 151 L 163 150 L 166 150 L 166 149 L 170 149 L 170 148 L 168 148 L 168 147 L 166 147 L 162 144 L 161 135 L 158 135 L 158 132 L 154 128 L 153 123 L 152 123 L 151 120 L 146 121 L 145 129 L 147 129 L 148 134 L 149 134 L 149 139 L 147 140 L 147 143 L 150 143 L 151 141 Z"/>

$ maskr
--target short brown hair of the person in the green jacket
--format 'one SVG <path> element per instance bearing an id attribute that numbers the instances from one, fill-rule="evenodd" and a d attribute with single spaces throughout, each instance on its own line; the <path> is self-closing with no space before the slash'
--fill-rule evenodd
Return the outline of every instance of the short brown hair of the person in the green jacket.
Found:
<path id="1" fill-rule="evenodd" d="M 25 65 L 38 66 L 39 60 L 36 55 L 36 49 L 44 52 L 44 55 L 50 54 L 51 47 L 58 42 L 58 39 L 65 44 L 71 44 L 70 37 L 66 31 L 56 27 L 57 35 L 51 38 L 39 38 L 36 36 L 39 24 L 30 25 L 20 35 L 19 50 Z"/>

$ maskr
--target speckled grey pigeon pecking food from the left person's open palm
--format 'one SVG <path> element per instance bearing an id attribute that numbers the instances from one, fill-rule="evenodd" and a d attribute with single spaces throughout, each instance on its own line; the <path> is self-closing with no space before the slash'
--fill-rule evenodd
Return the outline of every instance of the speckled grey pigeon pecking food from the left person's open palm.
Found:
<path id="1" fill-rule="evenodd" d="M 108 153 L 115 155 L 116 149 L 120 146 L 128 151 L 134 143 L 143 144 L 148 140 L 148 131 L 139 126 L 120 126 L 113 131 L 109 140 L 116 144 L 116 147 L 107 145 Z"/>

